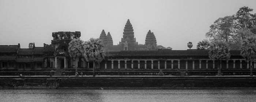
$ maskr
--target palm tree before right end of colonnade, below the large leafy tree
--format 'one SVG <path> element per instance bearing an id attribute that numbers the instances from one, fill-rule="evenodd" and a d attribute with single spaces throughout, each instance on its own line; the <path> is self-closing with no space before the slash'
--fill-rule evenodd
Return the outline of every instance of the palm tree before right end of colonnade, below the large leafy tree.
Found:
<path id="1" fill-rule="evenodd" d="M 223 41 L 214 41 L 209 48 L 209 58 L 217 60 L 218 76 L 221 75 L 220 62 L 222 59 L 228 60 L 230 58 L 229 48 L 227 43 Z"/>

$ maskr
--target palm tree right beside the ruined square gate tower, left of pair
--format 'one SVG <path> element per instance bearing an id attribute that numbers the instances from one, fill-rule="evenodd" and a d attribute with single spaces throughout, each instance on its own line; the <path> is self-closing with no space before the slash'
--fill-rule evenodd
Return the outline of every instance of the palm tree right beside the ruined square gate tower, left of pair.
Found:
<path id="1" fill-rule="evenodd" d="M 78 58 L 82 55 L 83 52 L 83 40 L 80 39 L 73 39 L 68 43 L 68 53 L 71 58 L 75 60 L 75 69 L 77 72 L 77 63 Z"/>

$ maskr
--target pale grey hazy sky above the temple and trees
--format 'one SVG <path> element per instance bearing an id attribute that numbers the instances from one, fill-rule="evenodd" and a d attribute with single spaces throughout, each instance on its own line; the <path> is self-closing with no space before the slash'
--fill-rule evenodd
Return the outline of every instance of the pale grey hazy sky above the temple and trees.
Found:
<path id="1" fill-rule="evenodd" d="M 113 44 L 123 37 L 127 19 L 136 41 L 145 43 L 148 30 L 157 44 L 187 50 L 203 39 L 219 17 L 234 15 L 256 0 L 0 0 L 0 45 L 28 48 L 51 44 L 52 32 L 80 31 L 82 40 L 110 32 Z"/>

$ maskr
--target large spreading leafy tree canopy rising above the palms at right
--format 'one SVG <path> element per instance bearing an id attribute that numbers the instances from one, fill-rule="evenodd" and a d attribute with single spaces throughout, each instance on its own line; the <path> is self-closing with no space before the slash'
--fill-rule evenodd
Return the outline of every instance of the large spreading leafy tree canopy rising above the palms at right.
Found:
<path id="1" fill-rule="evenodd" d="M 238 49 L 241 41 L 256 33 L 256 14 L 253 9 L 241 7 L 236 14 L 220 17 L 210 26 L 206 38 L 210 42 L 222 40 L 229 44 L 231 49 Z"/>

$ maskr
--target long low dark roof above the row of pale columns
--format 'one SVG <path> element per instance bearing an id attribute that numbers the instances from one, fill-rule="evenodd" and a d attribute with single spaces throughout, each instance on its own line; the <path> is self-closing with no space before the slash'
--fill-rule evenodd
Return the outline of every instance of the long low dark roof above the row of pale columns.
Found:
<path id="1" fill-rule="evenodd" d="M 106 52 L 106 56 L 208 56 L 209 50 L 144 50 Z M 240 55 L 240 50 L 231 50 L 231 55 Z"/>

